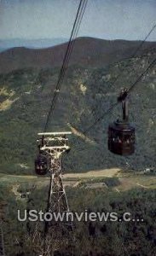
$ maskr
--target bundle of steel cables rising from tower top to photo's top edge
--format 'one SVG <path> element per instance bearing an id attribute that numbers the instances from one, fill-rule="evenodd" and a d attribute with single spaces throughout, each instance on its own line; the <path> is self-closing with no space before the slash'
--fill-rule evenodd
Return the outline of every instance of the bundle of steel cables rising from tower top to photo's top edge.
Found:
<path id="1" fill-rule="evenodd" d="M 70 56 L 72 54 L 73 45 L 75 44 L 74 38 L 78 34 L 78 29 L 79 29 L 80 23 L 83 19 L 83 16 L 84 16 L 84 11 L 85 11 L 85 8 L 86 8 L 86 5 L 87 5 L 87 1 L 88 0 L 84 0 L 84 1 L 81 0 L 80 3 L 79 3 L 79 6 L 78 6 L 78 12 L 77 12 L 77 15 L 76 15 L 73 27 L 72 27 L 71 37 L 70 37 L 69 42 L 68 42 L 67 47 L 66 47 L 66 54 L 64 56 L 63 63 L 62 63 L 62 66 L 61 66 L 61 71 L 60 71 L 60 74 L 59 74 L 59 78 L 58 78 L 57 84 L 55 86 L 55 93 L 54 93 L 53 99 L 51 101 L 51 105 L 50 105 L 50 108 L 49 108 L 49 113 L 47 115 L 46 123 L 45 123 L 45 126 L 44 126 L 44 131 L 47 131 L 47 128 L 48 128 L 48 125 L 49 125 L 49 119 L 50 119 L 50 117 L 51 117 L 51 115 L 52 115 L 52 113 L 54 112 L 54 109 L 55 109 L 55 102 L 56 102 L 56 99 L 57 99 L 57 96 L 58 96 L 58 92 L 61 88 L 62 80 L 64 79 L 64 76 L 65 76 L 65 73 L 66 73 L 66 68 L 67 68 Z"/>

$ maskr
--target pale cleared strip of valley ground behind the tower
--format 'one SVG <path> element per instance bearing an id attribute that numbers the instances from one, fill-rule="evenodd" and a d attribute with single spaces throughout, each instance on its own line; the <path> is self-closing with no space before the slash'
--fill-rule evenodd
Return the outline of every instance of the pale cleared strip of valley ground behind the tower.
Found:
<path id="1" fill-rule="evenodd" d="M 122 172 L 118 168 L 90 171 L 85 173 L 67 173 L 63 175 L 65 186 L 85 186 L 86 188 L 106 188 L 109 189 L 105 183 L 106 177 L 118 177 L 119 184 L 112 189 L 120 193 L 124 190 L 132 188 L 142 189 L 156 189 L 156 177 L 147 176 L 139 173 Z M 17 176 L 0 174 L 0 184 L 10 185 L 12 191 L 17 191 L 20 184 L 28 184 L 31 188 L 35 185 L 38 188 L 49 185 L 49 177 L 37 176 Z"/>

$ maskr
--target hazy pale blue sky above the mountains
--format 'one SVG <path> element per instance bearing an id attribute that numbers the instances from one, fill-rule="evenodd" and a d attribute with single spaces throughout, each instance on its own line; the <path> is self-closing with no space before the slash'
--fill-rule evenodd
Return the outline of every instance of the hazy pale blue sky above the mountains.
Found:
<path id="1" fill-rule="evenodd" d="M 79 0 L 0 0 L 0 39 L 69 38 Z M 78 36 L 143 39 L 156 0 L 88 0 Z M 156 41 L 156 29 L 148 40 Z"/>

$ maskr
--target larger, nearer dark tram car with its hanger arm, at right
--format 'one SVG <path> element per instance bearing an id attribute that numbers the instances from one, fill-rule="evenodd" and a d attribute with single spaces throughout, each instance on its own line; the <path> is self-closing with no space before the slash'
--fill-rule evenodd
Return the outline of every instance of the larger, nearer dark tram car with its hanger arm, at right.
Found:
<path id="1" fill-rule="evenodd" d="M 118 96 L 122 103 L 123 119 L 108 127 L 108 149 L 113 154 L 130 155 L 135 152 L 135 128 L 129 123 L 128 90 L 124 89 Z"/>

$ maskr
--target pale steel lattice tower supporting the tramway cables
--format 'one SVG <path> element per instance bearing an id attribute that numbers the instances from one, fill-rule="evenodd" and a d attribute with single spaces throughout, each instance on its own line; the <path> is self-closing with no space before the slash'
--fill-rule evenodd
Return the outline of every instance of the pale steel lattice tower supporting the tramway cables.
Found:
<path id="1" fill-rule="evenodd" d="M 49 197 L 46 212 L 69 212 L 69 206 L 66 198 L 66 191 L 63 185 L 61 156 L 70 150 L 67 145 L 66 135 L 72 132 L 45 132 L 38 133 L 41 138 L 38 139 L 40 151 L 47 154 L 49 159 Z M 44 223 L 44 249 L 43 255 L 53 255 L 54 251 L 61 247 L 63 239 L 68 240 L 72 231 L 72 221 L 49 221 Z M 38 232 L 36 232 L 36 236 Z"/>

